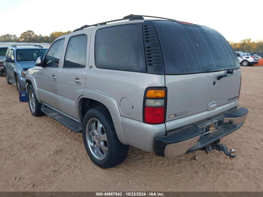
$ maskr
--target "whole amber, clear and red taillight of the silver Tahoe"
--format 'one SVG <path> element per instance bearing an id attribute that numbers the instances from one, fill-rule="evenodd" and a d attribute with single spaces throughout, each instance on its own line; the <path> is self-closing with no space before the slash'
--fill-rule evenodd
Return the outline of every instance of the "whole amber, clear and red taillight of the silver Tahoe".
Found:
<path id="1" fill-rule="evenodd" d="M 151 87 L 146 89 L 143 99 L 143 122 L 161 124 L 166 115 L 166 88 Z"/>

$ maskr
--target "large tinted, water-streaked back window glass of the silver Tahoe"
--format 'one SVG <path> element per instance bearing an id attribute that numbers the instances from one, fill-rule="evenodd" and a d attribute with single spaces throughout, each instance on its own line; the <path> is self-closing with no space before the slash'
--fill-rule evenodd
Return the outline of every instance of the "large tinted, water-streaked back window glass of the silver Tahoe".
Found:
<path id="1" fill-rule="evenodd" d="M 153 21 L 166 74 L 201 73 L 239 67 L 227 40 L 216 30 L 175 21 Z"/>

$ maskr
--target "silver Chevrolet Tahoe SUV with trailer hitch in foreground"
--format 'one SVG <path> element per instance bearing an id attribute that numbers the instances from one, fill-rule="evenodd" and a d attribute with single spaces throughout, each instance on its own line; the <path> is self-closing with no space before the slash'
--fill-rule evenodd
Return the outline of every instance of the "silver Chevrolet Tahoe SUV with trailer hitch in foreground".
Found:
<path id="1" fill-rule="evenodd" d="M 237 108 L 241 69 L 231 46 L 205 26 L 143 17 L 56 39 L 26 72 L 32 115 L 82 132 L 101 168 L 120 164 L 129 145 L 163 157 L 213 149 L 235 157 L 219 143 L 248 113 Z"/>

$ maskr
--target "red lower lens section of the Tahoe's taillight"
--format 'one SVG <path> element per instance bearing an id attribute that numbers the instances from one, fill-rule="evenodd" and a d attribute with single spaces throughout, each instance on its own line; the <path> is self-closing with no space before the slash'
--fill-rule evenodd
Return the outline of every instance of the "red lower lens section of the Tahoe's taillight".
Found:
<path id="1" fill-rule="evenodd" d="M 164 107 L 145 107 L 144 120 L 149 124 L 163 123 L 164 112 Z"/>

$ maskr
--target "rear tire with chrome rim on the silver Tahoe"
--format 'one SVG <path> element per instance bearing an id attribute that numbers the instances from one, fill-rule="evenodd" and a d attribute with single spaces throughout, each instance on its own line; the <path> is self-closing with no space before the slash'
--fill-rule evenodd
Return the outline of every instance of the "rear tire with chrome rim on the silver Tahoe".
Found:
<path id="1" fill-rule="evenodd" d="M 118 165 L 127 157 L 129 145 L 118 139 L 106 107 L 88 110 L 83 119 L 82 138 L 90 159 L 100 168 Z"/>

